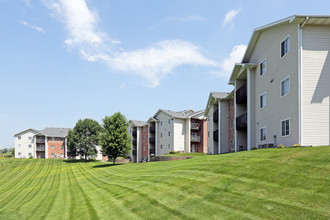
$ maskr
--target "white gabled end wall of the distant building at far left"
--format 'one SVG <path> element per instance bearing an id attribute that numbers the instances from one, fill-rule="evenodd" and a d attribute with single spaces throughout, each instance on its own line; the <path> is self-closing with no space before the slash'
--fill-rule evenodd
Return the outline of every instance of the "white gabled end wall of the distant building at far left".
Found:
<path id="1" fill-rule="evenodd" d="M 15 136 L 15 158 L 29 158 L 30 155 L 36 158 L 35 134 L 32 130 L 28 130 Z"/>

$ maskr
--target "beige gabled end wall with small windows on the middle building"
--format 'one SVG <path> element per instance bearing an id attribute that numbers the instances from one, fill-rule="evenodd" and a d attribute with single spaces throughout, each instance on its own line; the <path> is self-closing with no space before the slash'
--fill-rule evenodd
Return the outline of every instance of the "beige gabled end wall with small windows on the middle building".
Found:
<path id="1" fill-rule="evenodd" d="M 172 117 L 160 112 L 157 117 L 158 119 L 158 131 L 157 131 L 157 156 L 169 153 L 173 150 L 173 123 Z M 170 120 L 170 123 L 169 123 Z M 171 132 L 168 136 L 168 132 Z M 170 147 L 168 145 L 170 144 Z"/>

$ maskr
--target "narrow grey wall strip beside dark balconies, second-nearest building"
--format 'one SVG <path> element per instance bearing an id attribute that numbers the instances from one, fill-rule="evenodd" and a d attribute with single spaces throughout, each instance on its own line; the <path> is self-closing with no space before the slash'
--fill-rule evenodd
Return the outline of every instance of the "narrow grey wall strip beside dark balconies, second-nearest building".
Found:
<path id="1" fill-rule="evenodd" d="M 219 153 L 228 153 L 229 145 L 228 145 L 228 101 L 222 100 L 219 105 L 219 132 L 220 132 L 220 140 L 218 143 L 220 144 L 220 152 Z"/>

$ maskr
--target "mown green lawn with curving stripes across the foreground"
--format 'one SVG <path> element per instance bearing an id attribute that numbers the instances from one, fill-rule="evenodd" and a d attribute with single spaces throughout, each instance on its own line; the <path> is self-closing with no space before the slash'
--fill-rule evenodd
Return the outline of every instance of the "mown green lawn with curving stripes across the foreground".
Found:
<path id="1" fill-rule="evenodd" d="M 330 147 L 189 160 L 0 160 L 0 219 L 330 219 Z"/>

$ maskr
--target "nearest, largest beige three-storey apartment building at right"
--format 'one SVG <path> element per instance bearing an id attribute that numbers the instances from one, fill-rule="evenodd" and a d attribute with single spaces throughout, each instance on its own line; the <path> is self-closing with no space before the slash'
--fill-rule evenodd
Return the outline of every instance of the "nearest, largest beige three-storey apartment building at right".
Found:
<path id="1" fill-rule="evenodd" d="M 330 144 L 330 16 L 294 15 L 254 30 L 235 87 L 235 151 Z"/>

